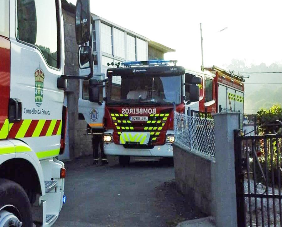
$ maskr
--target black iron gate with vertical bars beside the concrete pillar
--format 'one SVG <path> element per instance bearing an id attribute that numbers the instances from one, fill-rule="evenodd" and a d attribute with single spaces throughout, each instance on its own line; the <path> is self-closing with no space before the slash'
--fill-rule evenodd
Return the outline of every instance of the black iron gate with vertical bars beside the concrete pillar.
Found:
<path id="1" fill-rule="evenodd" d="M 238 227 L 282 227 L 282 134 L 234 130 Z"/>

